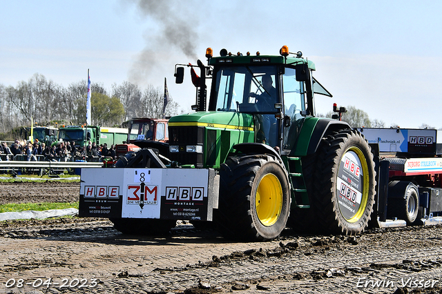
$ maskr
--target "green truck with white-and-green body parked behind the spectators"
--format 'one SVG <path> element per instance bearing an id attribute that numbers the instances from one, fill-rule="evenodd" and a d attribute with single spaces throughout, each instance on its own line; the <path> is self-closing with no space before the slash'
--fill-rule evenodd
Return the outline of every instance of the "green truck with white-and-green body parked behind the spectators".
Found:
<path id="1" fill-rule="evenodd" d="M 82 147 L 88 141 L 99 144 L 122 144 L 127 139 L 126 128 L 106 128 L 100 126 L 63 126 L 59 128 L 59 141 L 74 141 L 75 146 Z"/>

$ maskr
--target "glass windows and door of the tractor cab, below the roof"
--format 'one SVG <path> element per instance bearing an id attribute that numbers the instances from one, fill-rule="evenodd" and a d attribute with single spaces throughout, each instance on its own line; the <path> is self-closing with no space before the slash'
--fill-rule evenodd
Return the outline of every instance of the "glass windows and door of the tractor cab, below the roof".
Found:
<path id="1" fill-rule="evenodd" d="M 275 64 L 216 67 L 209 110 L 253 115 L 256 142 L 279 146 L 278 118 L 296 121 L 306 109 L 304 84 L 296 81 L 294 68 L 281 74 L 282 69 Z"/>

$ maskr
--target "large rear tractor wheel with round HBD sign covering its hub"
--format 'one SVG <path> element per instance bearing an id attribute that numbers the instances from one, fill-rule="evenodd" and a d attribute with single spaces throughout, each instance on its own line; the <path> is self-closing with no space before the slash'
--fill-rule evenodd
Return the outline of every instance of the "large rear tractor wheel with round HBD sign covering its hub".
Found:
<path id="1" fill-rule="evenodd" d="M 323 233 L 355 235 L 372 215 L 376 173 L 371 148 L 356 130 L 323 139 L 314 175 L 313 206 Z"/>

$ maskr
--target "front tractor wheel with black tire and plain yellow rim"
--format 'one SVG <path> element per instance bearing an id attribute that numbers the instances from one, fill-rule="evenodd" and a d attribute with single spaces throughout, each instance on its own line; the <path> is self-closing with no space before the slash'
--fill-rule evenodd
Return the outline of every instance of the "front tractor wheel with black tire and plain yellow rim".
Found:
<path id="1" fill-rule="evenodd" d="M 275 156 L 232 156 L 221 166 L 215 223 L 230 239 L 271 240 L 285 228 L 290 199 L 287 172 Z"/>

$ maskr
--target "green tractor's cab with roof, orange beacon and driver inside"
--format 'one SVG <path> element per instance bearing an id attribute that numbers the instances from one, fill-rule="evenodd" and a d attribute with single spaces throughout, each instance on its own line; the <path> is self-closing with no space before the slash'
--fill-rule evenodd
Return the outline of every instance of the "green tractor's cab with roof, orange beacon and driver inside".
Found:
<path id="1" fill-rule="evenodd" d="M 221 57 L 209 58 L 213 66 L 209 111 L 249 113 L 256 143 L 289 150 L 301 120 L 315 115 L 314 93 L 332 95 L 311 77 L 314 63 L 303 59 L 301 52 L 289 56 L 284 46 L 280 53 L 235 56 L 222 50 Z"/>

